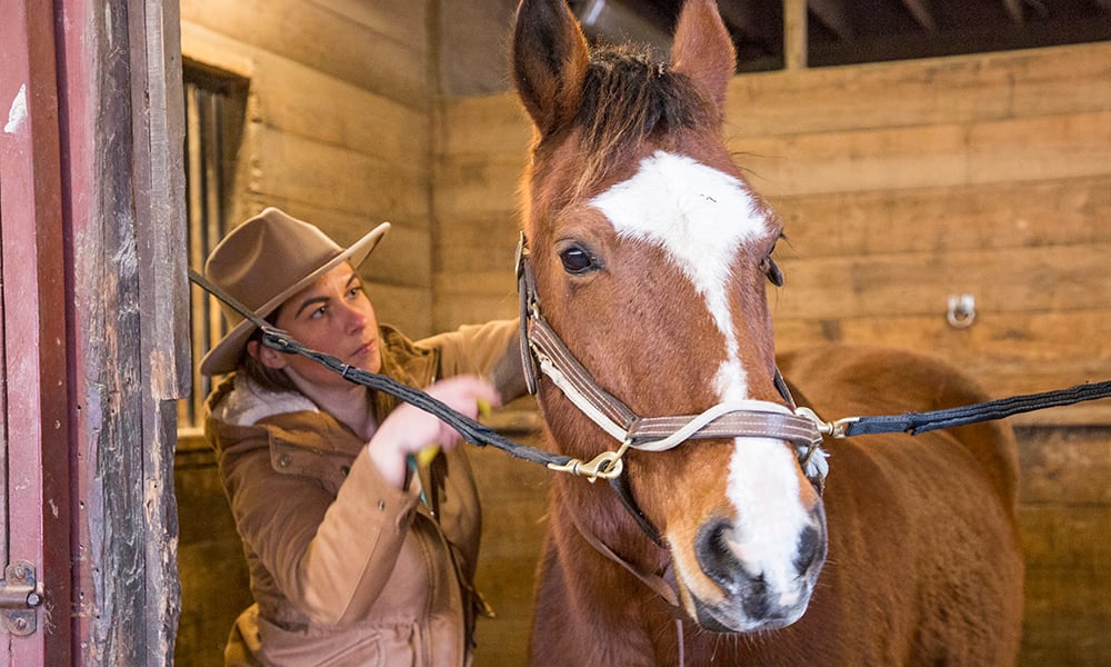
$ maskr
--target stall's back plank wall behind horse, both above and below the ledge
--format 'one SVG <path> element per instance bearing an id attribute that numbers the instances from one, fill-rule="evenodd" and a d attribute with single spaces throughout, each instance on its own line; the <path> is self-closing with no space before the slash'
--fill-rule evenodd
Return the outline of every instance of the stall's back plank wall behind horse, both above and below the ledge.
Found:
<path id="1" fill-rule="evenodd" d="M 508 93 L 448 100 L 442 116 L 437 329 L 516 311 L 512 193 L 530 140 Z M 730 86 L 727 116 L 739 163 L 787 221 L 787 286 L 770 297 L 780 349 L 835 340 L 925 351 L 993 397 L 1111 378 L 1111 44 L 745 74 Z M 977 317 L 958 329 L 948 300 L 963 293 Z M 1012 422 L 1021 661 L 1107 664 L 1111 406 Z M 509 665 L 521 659 L 529 619 L 517 610 L 530 591 L 501 581 L 529 581 L 514 568 L 539 551 L 544 480 L 528 470 L 518 485 L 524 464 L 479 456 L 484 505 L 513 507 L 506 531 L 483 541 L 498 573 L 484 581 L 499 594 L 491 601 L 513 613 L 480 628 Z"/>

